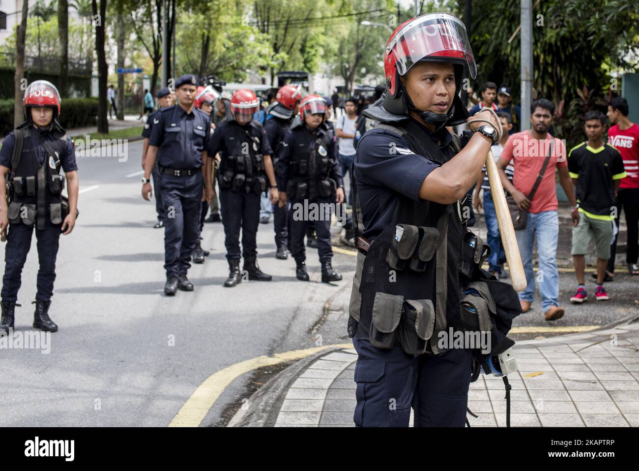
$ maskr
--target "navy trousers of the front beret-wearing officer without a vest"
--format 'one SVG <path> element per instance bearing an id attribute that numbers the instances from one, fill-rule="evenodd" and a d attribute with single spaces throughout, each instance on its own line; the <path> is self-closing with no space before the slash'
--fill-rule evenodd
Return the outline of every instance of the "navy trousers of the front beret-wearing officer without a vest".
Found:
<path id="1" fill-rule="evenodd" d="M 164 203 L 164 269 L 169 276 L 186 275 L 197 243 L 204 177 L 160 175 Z"/>

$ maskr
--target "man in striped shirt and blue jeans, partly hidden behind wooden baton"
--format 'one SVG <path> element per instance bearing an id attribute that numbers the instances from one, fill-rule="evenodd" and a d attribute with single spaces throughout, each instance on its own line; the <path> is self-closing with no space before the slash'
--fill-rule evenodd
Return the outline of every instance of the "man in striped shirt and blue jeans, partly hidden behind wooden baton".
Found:
<path id="1" fill-rule="evenodd" d="M 502 135 L 502 140 L 491 147 L 491 150 L 493 151 L 493 157 L 495 157 L 495 162 L 497 162 L 499 156 L 502 155 L 502 150 L 504 150 L 504 145 L 508 140 L 509 131 L 512 129 L 511 115 L 505 113 L 504 111 L 497 111 L 497 116 L 502 122 L 504 134 Z M 505 172 L 508 179 L 512 182 L 512 173 L 514 172 L 512 165 L 509 164 L 506 167 Z M 502 245 L 502 237 L 499 234 L 497 212 L 495 211 L 493 196 L 490 192 L 490 186 L 488 184 L 488 174 L 486 173 L 485 166 L 484 168 L 482 168 L 481 175 L 479 176 L 479 179 L 477 179 L 477 183 L 475 184 L 475 194 L 473 195 L 473 206 L 475 207 L 475 211 L 478 211 L 482 207 L 481 199 L 479 199 L 479 191 L 482 189 L 484 190 L 484 218 L 486 218 L 486 228 L 488 229 L 488 240 L 486 241 L 486 243 L 488 243 L 491 250 L 490 255 L 488 256 L 488 271 L 497 276 L 497 278 L 506 278 L 507 275 L 504 271 L 506 254 L 504 251 L 504 246 Z"/>

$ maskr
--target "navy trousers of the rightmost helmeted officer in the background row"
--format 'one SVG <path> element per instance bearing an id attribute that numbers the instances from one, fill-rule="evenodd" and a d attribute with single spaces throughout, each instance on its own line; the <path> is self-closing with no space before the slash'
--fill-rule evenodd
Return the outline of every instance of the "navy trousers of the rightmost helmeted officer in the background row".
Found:
<path id="1" fill-rule="evenodd" d="M 330 244 L 330 214 L 332 200 L 329 198 L 318 198 L 316 200 L 291 200 L 291 209 L 289 209 L 289 223 L 291 225 L 291 255 L 295 260 L 306 260 L 306 249 L 304 246 L 304 236 L 306 235 L 307 226 L 309 225 L 309 217 L 311 216 L 312 205 L 317 205 L 316 215 L 318 219 L 312 223 L 315 226 L 315 234 L 318 239 L 318 255 L 319 261 L 330 260 L 333 257 L 333 249 Z M 334 201 L 334 200 L 333 200 Z M 309 209 L 309 214 L 305 214 Z M 324 209 L 324 211 L 321 211 Z M 321 213 L 321 215 L 320 215 Z"/>

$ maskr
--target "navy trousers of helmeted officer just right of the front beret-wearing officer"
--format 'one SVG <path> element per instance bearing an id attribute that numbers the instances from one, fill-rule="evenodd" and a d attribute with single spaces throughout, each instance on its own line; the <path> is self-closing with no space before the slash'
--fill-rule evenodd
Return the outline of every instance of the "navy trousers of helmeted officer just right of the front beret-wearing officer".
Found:
<path id="1" fill-rule="evenodd" d="M 227 259 L 245 259 L 258 256 L 258 227 L 260 195 L 231 189 L 220 189 L 220 212 L 224 225 L 224 245 Z M 240 252 L 242 229 L 242 252 Z"/>

